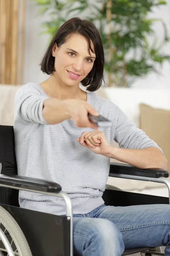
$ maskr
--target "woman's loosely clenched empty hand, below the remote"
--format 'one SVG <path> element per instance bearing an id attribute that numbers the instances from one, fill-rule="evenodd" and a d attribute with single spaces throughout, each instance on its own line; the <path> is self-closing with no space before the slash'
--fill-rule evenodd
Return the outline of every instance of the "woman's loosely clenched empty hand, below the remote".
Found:
<path id="1" fill-rule="evenodd" d="M 86 148 L 89 148 L 96 154 L 107 155 L 111 151 L 112 146 L 108 142 L 102 131 L 85 131 L 77 138 L 77 141 Z"/>

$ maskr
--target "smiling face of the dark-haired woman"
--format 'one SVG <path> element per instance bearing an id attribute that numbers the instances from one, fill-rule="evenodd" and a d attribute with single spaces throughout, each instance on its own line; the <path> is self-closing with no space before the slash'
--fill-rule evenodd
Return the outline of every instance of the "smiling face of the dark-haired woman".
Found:
<path id="1" fill-rule="evenodd" d="M 60 47 L 54 45 L 54 75 L 59 82 L 68 86 L 78 85 L 94 65 L 96 55 L 88 52 L 88 42 L 79 34 L 74 34 Z"/>

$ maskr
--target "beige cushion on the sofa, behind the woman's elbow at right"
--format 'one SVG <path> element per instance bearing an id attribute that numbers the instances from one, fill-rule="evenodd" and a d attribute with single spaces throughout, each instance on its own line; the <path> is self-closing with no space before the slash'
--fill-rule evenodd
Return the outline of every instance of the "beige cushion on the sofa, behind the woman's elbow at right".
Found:
<path id="1" fill-rule="evenodd" d="M 161 147 L 170 173 L 170 110 L 140 104 L 140 128 Z"/>

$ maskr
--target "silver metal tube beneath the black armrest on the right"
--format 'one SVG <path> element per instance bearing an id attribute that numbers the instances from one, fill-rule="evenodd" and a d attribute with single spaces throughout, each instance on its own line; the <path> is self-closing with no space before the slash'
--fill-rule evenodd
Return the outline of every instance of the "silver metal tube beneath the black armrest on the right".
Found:
<path id="1" fill-rule="evenodd" d="M 169 192 L 169 204 L 170 204 L 170 180 L 165 177 L 153 178 L 153 177 L 144 177 L 144 176 L 136 176 L 136 175 L 127 175 L 127 174 L 114 174 L 111 173 L 109 177 L 116 177 L 116 178 L 123 178 L 123 179 L 130 179 L 130 180 L 144 180 L 144 181 L 152 181 L 158 183 L 164 183 Z"/>

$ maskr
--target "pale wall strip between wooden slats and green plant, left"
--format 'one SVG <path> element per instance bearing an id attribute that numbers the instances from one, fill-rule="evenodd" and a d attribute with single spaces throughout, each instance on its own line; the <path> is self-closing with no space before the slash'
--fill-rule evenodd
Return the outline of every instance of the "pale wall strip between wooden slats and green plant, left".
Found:
<path id="1" fill-rule="evenodd" d="M 36 6 L 35 2 L 26 0 L 23 84 L 28 82 L 39 83 L 48 77 L 40 71 L 39 66 L 49 38 L 48 35 L 39 35 L 43 31 L 41 23 L 48 17 L 45 15 L 37 16 L 39 9 L 40 6 Z"/>

